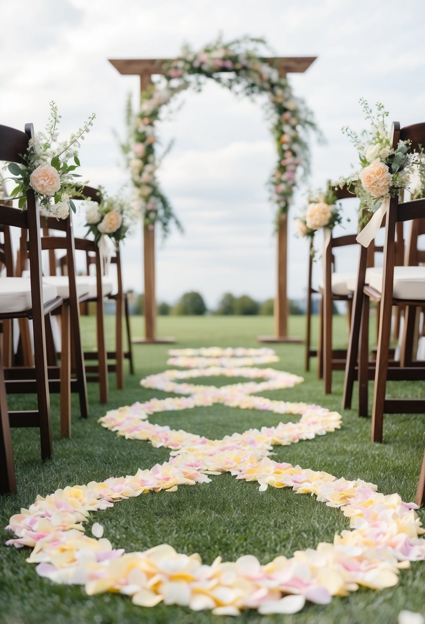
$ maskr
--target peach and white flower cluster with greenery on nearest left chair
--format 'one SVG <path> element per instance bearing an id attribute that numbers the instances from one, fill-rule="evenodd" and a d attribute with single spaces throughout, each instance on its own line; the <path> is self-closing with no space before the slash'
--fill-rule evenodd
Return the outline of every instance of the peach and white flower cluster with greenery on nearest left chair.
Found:
<path id="1" fill-rule="evenodd" d="M 32 188 L 44 213 L 57 218 L 67 218 L 69 208 L 75 212 L 72 197 L 81 195 L 81 176 L 75 173 L 80 166 L 78 149 L 85 135 L 90 132 L 93 113 L 68 140 L 58 142 L 60 115 L 54 102 L 50 102 L 50 117 L 45 132 L 38 132 L 29 140 L 22 164 L 9 163 L 9 172 L 16 184 L 10 198 L 18 200 L 19 208 L 25 208 L 26 193 Z"/>

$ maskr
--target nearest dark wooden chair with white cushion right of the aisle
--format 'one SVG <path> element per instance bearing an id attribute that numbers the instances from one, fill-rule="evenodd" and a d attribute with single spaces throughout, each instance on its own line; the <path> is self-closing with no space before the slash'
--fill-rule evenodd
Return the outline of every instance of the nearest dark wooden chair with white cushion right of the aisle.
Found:
<path id="1" fill-rule="evenodd" d="M 396 147 L 399 140 L 410 140 L 411 150 L 418 150 L 425 143 L 425 123 L 400 128 L 394 122 L 391 129 L 391 142 Z M 425 199 L 399 203 L 399 198 L 391 198 L 386 213 L 384 262 L 380 273 L 374 271 L 368 285 L 363 288 L 361 333 L 360 333 L 360 382 L 367 386 L 368 362 L 364 356 L 368 342 L 368 310 L 370 301 L 380 301 L 380 329 L 376 354 L 375 386 L 373 392 L 372 432 L 373 442 L 381 442 L 383 437 L 384 414 L 425 412 L 424 399 L 387 399 L 387 379 L 395 381 L 425 381 L 425 365 L 406 366 L 406 358 L 401 353 L 400 365 L 389 367 L 389 341 L 391 334 L 391 311 L 393 306 L 404 306 L 404 325 L 411 324 L 417 308 L 425 303 L 425 267 L 396 266 L 396 230 L 399 224 L 425 217 Z"/>

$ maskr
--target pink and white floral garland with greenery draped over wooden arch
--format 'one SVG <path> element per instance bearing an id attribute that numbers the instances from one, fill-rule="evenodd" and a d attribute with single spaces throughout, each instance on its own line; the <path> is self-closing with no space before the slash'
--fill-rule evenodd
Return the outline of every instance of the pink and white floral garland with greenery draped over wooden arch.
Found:
<path id="1" fill-rule="evenodd" d="M 306 132 L 315 129 L 312 113 L 279 71 L 259 56 L 261 39 L 244 37 L 230 42 L 212 42 L 198 52 L 188 46 L 165 69 L 163 80 L 141 94 L 140 112 L 133 118 L 128 110 L 128 140 L 122 145 L 135 186 L 135 202 L 143 213 L 145 227 L 161 223 L 163 233 L 176 223 L 170 202 L 160 189 L 156 172 L 160 159 L 155 154 L 156 124 L 165 105 L 179 92 L 200 89 L 211 78 L 236 94 L 266 94 L 272 135 L 277 147 L 277 165 L 269 179 L 271 199 L 277 215 L 287 213 L 294 192 L 298 167 L 308 169 Z"/>

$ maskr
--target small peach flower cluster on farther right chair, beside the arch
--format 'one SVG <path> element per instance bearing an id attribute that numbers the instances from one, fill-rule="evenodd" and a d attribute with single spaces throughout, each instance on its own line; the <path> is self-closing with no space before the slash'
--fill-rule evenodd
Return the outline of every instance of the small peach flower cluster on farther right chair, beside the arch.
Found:
<path id="1" fill-rule="evenodd" d="M 337 195 L 328 183 L 325 192 L 318 190 L 308 194 L 305 212 L 295 221 L 299 236 L 313 238 L 320 228 L 332 228 L 341 223 L 341 208 L 337 204 Z"/>

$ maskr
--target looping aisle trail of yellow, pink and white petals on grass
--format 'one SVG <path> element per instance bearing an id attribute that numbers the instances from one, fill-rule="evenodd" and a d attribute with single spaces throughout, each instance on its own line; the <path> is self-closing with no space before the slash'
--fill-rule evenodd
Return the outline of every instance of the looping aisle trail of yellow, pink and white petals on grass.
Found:
<path id="1" fill-rule="evenodd" d="M 176 354 L 177 357 L 181 355 Z M 198 354 L 183 356 L 197 357 Z M 246 376 L 270 380 L 265 383 L 284 383 L 283 375 L 288 375 L 274 371 L 276 375 L 270 376 L 270 369 L 265 369 L 269 371 L 267 375 L 260 375 L 259 370 L 255 375 L 247 373 Z M 181 378 L 176 373 L 182 372 L 193 373 L 173 371 L 171 378 Z M 192 376 L 199 376 L 199 371 L 197 373 Z M 162 374 L 161 383 L 172 383 L 164 376 Z M 148 378 L 151 384 L 152 378 L 158 381 L 158 376 L 151 376 Z M 286 387 L 299 383 L 295 376 L 285 379 Z M 191 392 L 192 386 L 183 385 L 187 393 Z M 250 384 L 240 385 L 251 389 Z M 222 396 L 214 394 L 214 399 L 227 397 L 220 402 L 228 404 L 232 392 L 237 394 L 235 387 L 227 386 L 227 391 Z M 223 388 L 215 388 L 218 393 L 221 390 Z M 425 559 L 425 540 L 419 539 L 424 530 L 414 511 L 416 505 L 404 503 L 398 494 L 380 494 L 375 485 L 361 480 L 337 479 L 326 472 L 270 459 L 273 444 L 290 444 L 334 431 L 340 427 L 339 414 L 318 406 L 282 401 L 272 401 L 269 405 L 266 402 L 264 406 L 269 407 L 262 409 L 301 414 L 300 422 L 251 429 L 214 441 L 146 421 L 148 412 L 186 409 L 176 407 L 178 403 L 172 407 L 169 401 L 196 403 L 198 396 L 206 396 L 204 389 L 192 397 L 153 399 L 108 412 L 100 419 L 103 426 L 120 435 L 146 439 L 154 446 L 172 449 L 170 461 L 150 470 L 139 469 L 133 476 L 65 487 L 45 498 L 38 496 L 29 510 L 22 509 L 21 514 L 12 516 L 8 528 L 16 539 L 7 544 L 32 547 L 27 561 L 38 563 L 39 575 L 57 583 L 84 585 L 88 595 L 119 592 L 131 596 L 133 603 L 144 607 L 164 602 L 188 606 L 195 611 L 211 609 L 217 615 L 238 615 L 246 608 L 257 609 L 262 614 L 295 613 L 306 600 L 326 604 L 332 596 L 348 595 L 360 586 L 392 587 L 398 582 L 400 568 L 409 567 L 410 561 Z M 239 407 L 241 401 L 237 396 Z M 222 562 L 217 557 L 207 565 L 198 554 L 177 553 L 167 544 L 145 552 L 125 553 L 122 548 L 113 548 L 110 541 L 102 537 L 103 527 L 98 523 L 92 527 L 93 537 L 84 533 L 84 522 L 92 512 L 140 494 L 160 490 L 173 492 L 178 485 L 207 483 L 211 480 L 207 474 L 221 472 L 231 472 L 239 480 L 257 481 L 260 490 L 270 485 L 291 487 L 296 494 L 314 494 L 318 501 L 339 507 L 350 519 L 351 530 L 336 534 L 333 544 L 320 543 L 317 548 L 297 551 L 291 558 L 278 556 L 265 565 L 260 565 L 253 555 L 244 555 L 236 562 Z"/>

